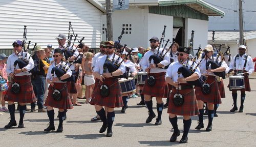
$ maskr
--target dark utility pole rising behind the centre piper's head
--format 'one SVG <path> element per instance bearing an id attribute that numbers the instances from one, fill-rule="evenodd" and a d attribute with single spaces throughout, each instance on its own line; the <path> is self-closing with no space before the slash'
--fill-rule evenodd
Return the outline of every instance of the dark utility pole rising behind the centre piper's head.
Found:
<path id="1" fill-rule="evenodd" d="M 105 0 L 105 1 L 106 1 L 106 28 L 108 28 L 109 40 L 113 41 L 111 2 L 110 2 L 110 0 Z"/>

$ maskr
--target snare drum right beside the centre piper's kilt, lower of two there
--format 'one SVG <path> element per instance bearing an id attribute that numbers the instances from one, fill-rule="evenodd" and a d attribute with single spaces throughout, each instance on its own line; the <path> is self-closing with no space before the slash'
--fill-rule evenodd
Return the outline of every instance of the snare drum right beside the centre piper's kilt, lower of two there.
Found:
<path id="1" fill-rule="evenodd" d="M 136 91 L 136 87 L 134 85 L 132 77 L 130 77 L 129 79 L 122 78 L 118 82 L 121 87 L 121 94 L 128 94 Z"/>

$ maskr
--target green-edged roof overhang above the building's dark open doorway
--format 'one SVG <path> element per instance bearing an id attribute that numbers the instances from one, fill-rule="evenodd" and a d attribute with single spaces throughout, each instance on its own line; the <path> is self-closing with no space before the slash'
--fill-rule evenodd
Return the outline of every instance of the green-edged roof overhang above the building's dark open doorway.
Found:
<path id="1" fill-rule="evenodd" d="M 208 16 L 224 16 L 225 13 L 202 0 L 159 1 L 159 6 L 187 5 Z"/>

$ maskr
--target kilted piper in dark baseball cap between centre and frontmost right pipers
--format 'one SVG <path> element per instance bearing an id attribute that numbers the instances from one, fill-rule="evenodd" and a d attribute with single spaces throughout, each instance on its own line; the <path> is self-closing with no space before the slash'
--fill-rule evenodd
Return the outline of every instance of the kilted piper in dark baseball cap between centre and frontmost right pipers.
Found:
<path id="1" fill-rule="evenodd" d="M 148 60 L 151 55 L 154 54 L 154 52 L 158 51 L 158 46 L 159 46 L 159 40 L 157 37 L 153 37 L 150 39 L 150 45 L 151 45 L 151 50 L 146 52 L 144 54 L 144 57 L 142 58 L 142 69 L 145 72 L 150 72 L 151 76 L 154 76 L 156 79 L 156 83 L 153 86 L 150 86 L 147 84 L 147 79 L 145 81 L 142 94 L 144 94 L 145 98 L 145 104 L 147 105 L 148 111 L 150 112 L 150 115 L 146 119 L 146 123 L 150 123 L 154 117 L 156 117 L 156 114 L 153 111 L 153 102 L 152 102 L 152 97 L 156 97 L 157 101 L 157 121 L 155 125 L 161 125 L 161 116 L 162 116 L 162 110 L 163 110 L 163 100 L 162 98 L 168 98 L 169 97 L 169 90 L 168 90 L 168 85 L 167 82 L 165 81 L 164 75 L 166 73 L 166 69 L 164 69 L 165 66 L 169 65 L 170 63 L 170 57 L 169 54 L 166 53 L 166 55 L 163 58 L 163 61 L 161 61 L 158 64 L 154 64 L 154 61 L 152 59 L 151 64 L 150 61 Z M 155 50 L 153 50 L 153 48 Z M 159 49 L 159 54 L 162 52 L 163 48 Z M 163 54 L 166 51 L 163 51 Z M 162 67 L 162 68 L 161 68 Z"/>

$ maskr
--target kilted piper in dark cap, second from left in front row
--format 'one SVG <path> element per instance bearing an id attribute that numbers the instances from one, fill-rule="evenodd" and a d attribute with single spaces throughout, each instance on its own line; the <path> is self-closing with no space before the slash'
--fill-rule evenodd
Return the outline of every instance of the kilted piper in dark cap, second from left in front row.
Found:
<path id="1" fill-rule="evenodd" d="M 57 48 L 54 50 L 53 58 L 56 61 L 58 67 L 61 64 L 61 61 L 63 60 L 63 51 L 60 48 Z M 66 64 L 66 62 L 62 63 L 63 65 Z M 53 108 L 58 108 L 58 116 L 59 116 L 59 126 L 56 130 L 57 132 L 62 132 L 63 127 L 62 123 L 65 119 L 65 111 L 67 109 L 72 109 L 73 105 L 69 97 L 68 89 L 66 82 L 63 82 L 61 80 L 67 79 L 72 75 L 72 72 L 70 69 L 67 70 L 67 73 L 62 75 L 61 77 L 57 77 L 56 73 L 54 72 L 54 76 L 52 76 L 52 68 L 55 67 L 55 62 L 49 67 L 49 71 L 47 73 L 47 82 L 50 84 L 49 87 L 49 93 L 48 97 L 46 99 L 45 105 L 48 106 L 47 114 L 50 120 L 50 125 L 45 129 L 45 132 L 54 131 L 54 110 Z M 53 93 L 55 93 L 54 89 L 57 89 L 61 93 L 61 99 L 59 101 L 54 99 Z"/>

